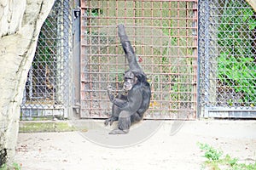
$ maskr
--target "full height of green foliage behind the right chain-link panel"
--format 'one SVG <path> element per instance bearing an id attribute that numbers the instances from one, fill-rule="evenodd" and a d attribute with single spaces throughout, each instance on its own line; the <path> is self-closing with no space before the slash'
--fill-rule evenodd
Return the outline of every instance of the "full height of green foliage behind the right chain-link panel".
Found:
<path id="1" fill-rule="evenodd" d="M 233 7 L 233 8 L 230 8 Z M 256 19 L 252 8 L 240 8 L 239 2 L 231 1 L 224 7 L 218 26 L 218 79 L 225 86 L 243 95 L 243 104 L 256 104 L 256 65 L 253 52 L 253 30 Z M 250 33 L 247 33 L 250 32 Z"/>

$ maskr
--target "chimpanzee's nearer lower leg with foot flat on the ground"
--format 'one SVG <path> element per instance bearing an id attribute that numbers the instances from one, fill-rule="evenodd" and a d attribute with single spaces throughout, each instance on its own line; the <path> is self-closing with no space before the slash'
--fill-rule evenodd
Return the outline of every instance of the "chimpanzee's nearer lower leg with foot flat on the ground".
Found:
<path id="1" fill-rule="evenodd" d="M 119 114 L 119 127 L 113 129 L 109 134 L 125 134 L 129 133 L 131 127 L 131 113 L 129 111 L 122 111 Z"/>

